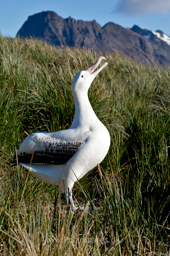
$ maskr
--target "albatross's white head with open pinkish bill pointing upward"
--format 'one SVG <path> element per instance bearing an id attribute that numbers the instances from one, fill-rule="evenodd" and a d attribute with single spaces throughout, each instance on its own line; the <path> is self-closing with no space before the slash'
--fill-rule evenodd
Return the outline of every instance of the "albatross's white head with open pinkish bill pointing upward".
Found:
<path id="1" fill-rule="evenodd" d="M 95 72 L 93 72 L 96 67 L 99 66 L 101 60 L 105 59 L 105 57 L 100 56 L 95 64 L 93 64 L 91 67 L 88 67 L 88 69 L 86 70 L 82 70 L 80 72 L 78 72 L 75 77 L 73 78 L 73 83 L 72 83 L 72 90 L 74 92 L 78 92 L 78 91 L 88 91 L 90 84 L 92 83 L 92 81 L 95 79 L 95 77 L 97 76 L 97 74 L 104 68 L 107 66 L 107 62 L 105 62 L 98 70 L 96 70 Z"/>

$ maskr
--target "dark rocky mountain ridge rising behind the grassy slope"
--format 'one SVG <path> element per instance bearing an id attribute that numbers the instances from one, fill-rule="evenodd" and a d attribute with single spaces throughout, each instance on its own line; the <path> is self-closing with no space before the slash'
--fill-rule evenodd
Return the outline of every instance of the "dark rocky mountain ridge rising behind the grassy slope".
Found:
<path id="1" fill-rule="evenodd" d="M 169 66 L 170 46 L 153 33 L 148 37 L 147 32 L 139 32 L 136 27 L 126 29 L 112 22 L 101 27 L 95 20 L 63 19 L 52 11 L 44 11 L 29 16 L 16 36 L 42 38 L 58 46 L 84 46 L 103 55 L 116 50 L 147 65 Z"/>

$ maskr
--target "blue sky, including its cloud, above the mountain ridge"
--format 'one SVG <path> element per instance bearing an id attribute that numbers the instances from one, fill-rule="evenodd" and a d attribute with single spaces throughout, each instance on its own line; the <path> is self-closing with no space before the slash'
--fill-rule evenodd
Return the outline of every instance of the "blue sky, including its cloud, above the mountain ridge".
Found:
<path id="1" fill-rule="evenodd" d="M 110 21 L 125 28 L 136 24 L 170 36 L 170 0 L 0 0 L 1 34 L 15 37 L 28 16 L 41 11 L 54 11 L 62 18 L 96 20 L 101 26 Z"/>

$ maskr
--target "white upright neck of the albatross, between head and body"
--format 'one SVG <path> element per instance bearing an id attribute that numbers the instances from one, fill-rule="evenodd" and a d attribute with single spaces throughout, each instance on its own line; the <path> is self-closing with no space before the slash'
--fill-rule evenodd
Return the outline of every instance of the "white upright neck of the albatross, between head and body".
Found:
<path id="1" fill-rule="evenodd" d="M 75 115 L 70 128 L 84 127 L 88 129 L 93 123 L 96 124 L 97 120 L 100 122 L 89 102 L 88 92 L 73 92 L 73 98 Z"/>

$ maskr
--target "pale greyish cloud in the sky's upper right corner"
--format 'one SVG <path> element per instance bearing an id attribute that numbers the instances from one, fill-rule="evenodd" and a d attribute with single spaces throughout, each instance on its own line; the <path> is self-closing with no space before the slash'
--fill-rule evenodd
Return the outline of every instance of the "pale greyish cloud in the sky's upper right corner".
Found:
<path id="1" fill-rule="evenodd" d="M 114 13 L 124 13 L 127 16 L 152 13 L 158 11 L 168 14 L 170 0 L 119 0 Z"/>

